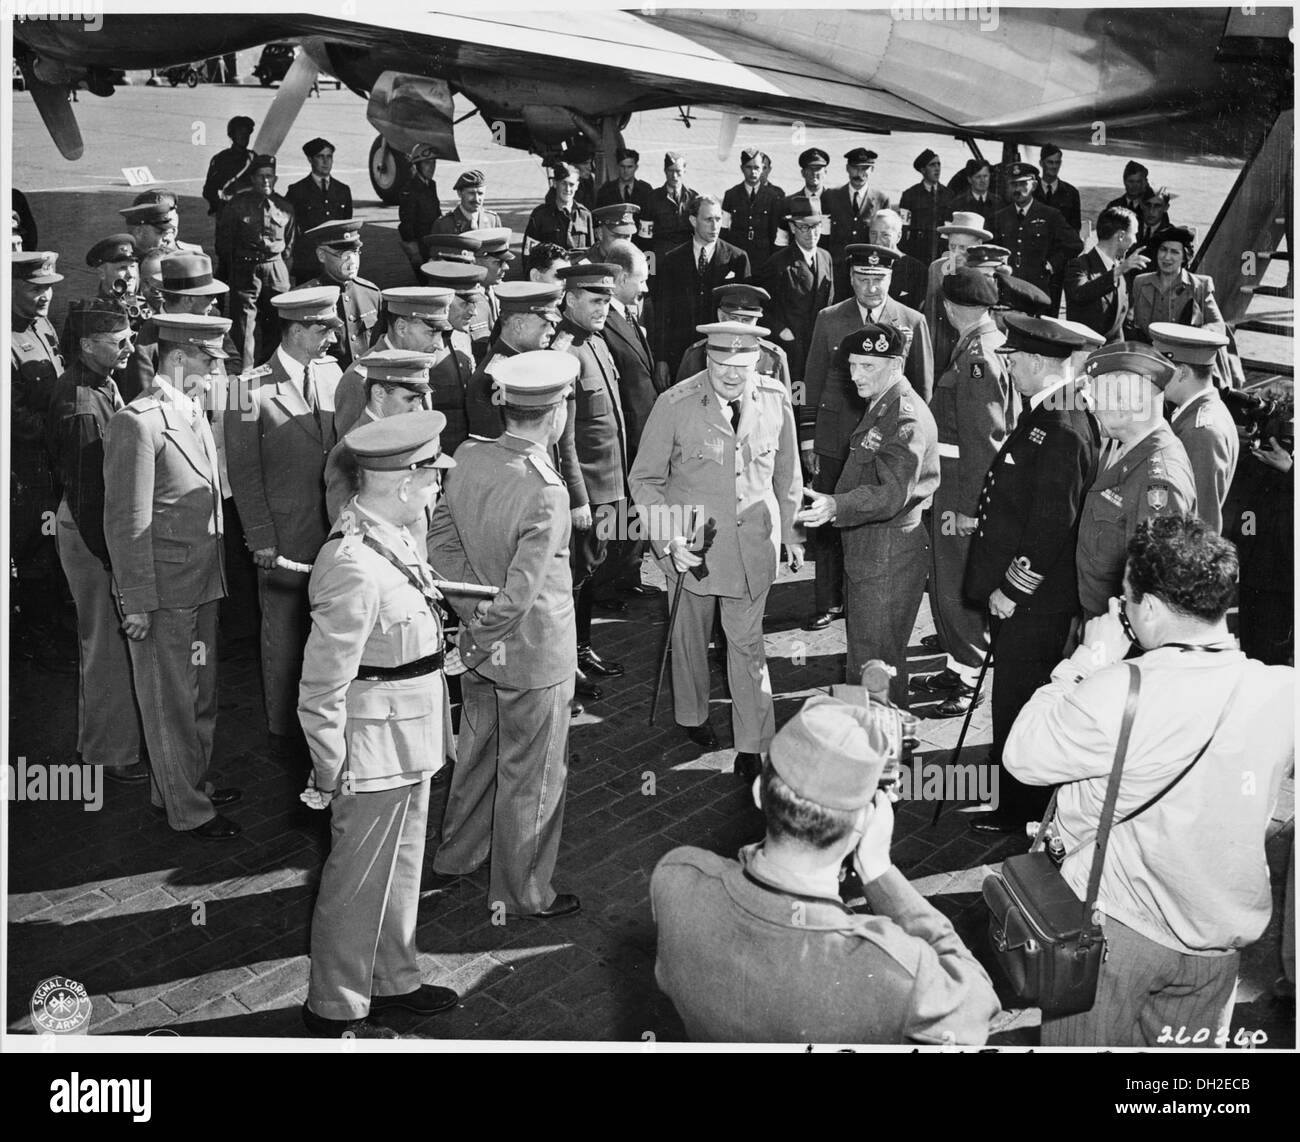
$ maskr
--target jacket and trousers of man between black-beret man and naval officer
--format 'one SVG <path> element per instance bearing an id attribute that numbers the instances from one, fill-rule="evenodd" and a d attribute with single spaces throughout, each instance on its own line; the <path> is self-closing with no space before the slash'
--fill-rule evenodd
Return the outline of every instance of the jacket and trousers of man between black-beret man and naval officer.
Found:
<path id="1" fill-rule="evenodd" d="M 939 489 L 931 537 L 930 613 L 940 645 L 975 670 L 988 650 L 988 607 L 962 594 L 971 536 L 957 532 L 957 515 L 979 511 L 980 489 L 1002 441 L 1015 425 L 1015 393 L 997 346 L 1005 336 L 988 315 L 967 330 L 952 364 L 935 385 L 930 410 L 939 431 Z"/>

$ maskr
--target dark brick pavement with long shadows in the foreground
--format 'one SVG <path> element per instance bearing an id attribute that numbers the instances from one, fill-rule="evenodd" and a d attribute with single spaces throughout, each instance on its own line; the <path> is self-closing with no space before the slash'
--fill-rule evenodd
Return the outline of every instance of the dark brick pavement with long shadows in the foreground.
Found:
<path id="1" fill-rule="evenodd" d="M 809 571 L 783 572 L 767 614 L 767 650 L 777 722 L 803 697 L 838 680 L 844 628 L 815 635 L 806 618 Z M 654 923 L 649 875 L 679 844 L 733 855 L 762 835 L 749 791 L 731 774 L 732 750 L 701 756 L 672 724 L 671 696 L 646 726 L 666 597 L 632 605 L 628 615 L 599 619 L 594 644 L 621 661 L 606 696 L 589 702 L 571 739 L 569 787 L 556 887 L 577 892 L 582 912 L 541 923 L 494 925 L 486 869 L 447 894 L 424 892 L 420 960 L 429 982 L 456 989 L 460 1005 L 429 1020 L 387 1016 L 399 1031 L 467 1039 L 681 1039 L 671 1003 L 654 982 Z M 931 630 L 922 609 L 913 670 L 939 666 L 924 657 Z M 729 741 L 724 671 L 714 669 L 712 721 Z M 75 679 L 17 661 L 10 675 L 10 761 L 75 760 Z M 927 706 L 918 706 L 924 713 Z M 920 723 L 922 761 L 944 761 L 959 719 Z M 976 709 L 963 762 L 983 761 L 988 706 Z M 225 648 L 216 766 L 220 784 L 239 786 L 229 810 L 244 829 L 224 845 L 168 830 L 148 808 L 143 787 L 109 786 L 99 812 L 81 803 L 9 803 L 10 1031 L 31 1030 L 29 1002 L 53 974 L 83 983 L 94 1000 L 91 1034 L 143 1034 L 169 1028 L 182 1035 L 298 1037 L 307 990 L 308 925 L 324 857 L 328 818 L 298 801 L 303 774 L 268 754 L 256 657 Z M 446 784 L 436 787 L 428 860 L 437 844 Z M 933 827 L 932 805 L 900 805 L 894 836 L 898 868 L 958 929 L 980 943 L 979 886 L 989 866 L 1024 842 L 989 844 L 948 809 Z M 1291 821 L 1291 786 L 1274 830 Z M 1287 848 L 1270 843 L 1278 870 Z M 1247 951 L 1236 1024 L 1264 1028 L 1269 1046 L 1290 1042 L 1291 1025 L 1270 1003 L 1277 976 L 1275 918 Z M 1009 1015 L 993 1042 L 1036 1042 L 1037 1013 Z"/>

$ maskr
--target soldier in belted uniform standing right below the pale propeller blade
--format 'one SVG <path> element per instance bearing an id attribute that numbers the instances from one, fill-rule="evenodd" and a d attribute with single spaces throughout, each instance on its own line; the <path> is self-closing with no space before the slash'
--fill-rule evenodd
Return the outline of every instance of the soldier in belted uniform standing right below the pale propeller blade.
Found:
<path id="1" fill-rule="evenodd" d="M 255 155 L 248 177 L 252 186 L 217 219 L 217 264 L 230 285 L 230 336 L 251 367 L 280 341 L 274 298 L 290 287 L 298 224 L 289 199 L 276 194 L 274 155 Z"/>

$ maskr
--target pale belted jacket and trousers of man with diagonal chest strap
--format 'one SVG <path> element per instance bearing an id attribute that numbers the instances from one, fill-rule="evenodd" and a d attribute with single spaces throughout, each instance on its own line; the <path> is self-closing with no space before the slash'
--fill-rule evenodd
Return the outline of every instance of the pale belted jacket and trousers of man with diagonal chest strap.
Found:
<path id="1" fill-rule="evenodd" d="M 390 551 L 416 588 L 365 540 Z M 308 587 L 312 628 L 295 687 L 316 787 L 330 790 L 330 849 L 312 913 L 307 1005 L 355 1020 L 374 995 L 421 986 L 420 905 L 429 778 L 455 757 L 442 622 L 429 566 L 404 527 L 350 501 Z M 408 666 L 406 676 L 365 675 Z"/>

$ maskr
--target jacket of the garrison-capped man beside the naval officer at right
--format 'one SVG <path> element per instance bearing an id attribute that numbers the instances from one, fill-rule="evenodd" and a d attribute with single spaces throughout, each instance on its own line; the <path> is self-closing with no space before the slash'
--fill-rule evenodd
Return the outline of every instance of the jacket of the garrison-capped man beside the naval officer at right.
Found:
<path id="1" fill-rule="evenodd" d="M 1084 614 L 1105 614 L 1110 597 L 1122 593 L 1126 548 L 1138 524 L 1156 515 L 1195 511 L 1192 466 L 1164 420 L 1110 467 L 1102 453 L 1079 520 L 1076 563 Z"/>

